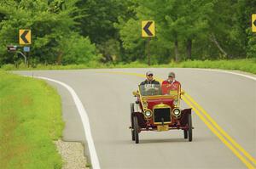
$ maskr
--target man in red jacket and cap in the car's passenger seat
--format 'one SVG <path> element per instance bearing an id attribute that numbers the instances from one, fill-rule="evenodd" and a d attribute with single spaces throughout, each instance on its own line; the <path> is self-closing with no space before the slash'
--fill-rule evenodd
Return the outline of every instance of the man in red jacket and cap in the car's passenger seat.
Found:
<path id="1" fill-rule="evenodd" d="M 168 79 L 162 82 L 162 94 L 170 94 L 170 91 L 177 91 L 180 93 L 181 85 L 180 82 L 175 80 L 175 73 L 170 72 L 168 74 Z"/>

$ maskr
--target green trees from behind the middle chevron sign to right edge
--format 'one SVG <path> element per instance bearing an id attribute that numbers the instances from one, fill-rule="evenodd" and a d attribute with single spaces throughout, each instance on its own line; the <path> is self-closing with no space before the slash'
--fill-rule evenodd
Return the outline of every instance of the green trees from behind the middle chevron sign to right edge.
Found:
<path id="1" fill-rule="evenodd" d="M 256 7 L 255 1 L 136 2 L 136 17 L 119 20 L 120 37 L 125 49 L 132 50 L 129 52 L 144 51 L 141 20 L 155 20 L 157 37 L 153 38 L 155 43 L 151 43 L 151 47 L 157 50 L 152 52 L 166 60 L 246 58 L 249 48 L 253 48 L 254 42 L 247 32 L 251 32 L 248 23 Z"/>

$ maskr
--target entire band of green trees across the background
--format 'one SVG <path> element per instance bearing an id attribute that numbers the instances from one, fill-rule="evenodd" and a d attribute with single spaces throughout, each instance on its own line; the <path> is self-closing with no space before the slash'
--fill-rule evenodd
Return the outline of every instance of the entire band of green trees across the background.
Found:
<path id="1" fill-rule="evenodd" d="M 142 20 L 155 21 L 149 48 L 153 64 L 253 58 L 255 8 L 254 0 L 3 0 L 0 65 L 20 64 L 20 54 L 6 51 L 18 43 L 20 28 L 32 29 L 32 66 L 147 63 Z"/>

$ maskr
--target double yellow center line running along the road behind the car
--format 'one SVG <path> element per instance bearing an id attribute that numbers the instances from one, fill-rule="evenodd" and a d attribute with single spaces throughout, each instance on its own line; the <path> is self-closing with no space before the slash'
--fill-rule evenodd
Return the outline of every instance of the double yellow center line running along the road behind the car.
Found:
<path id="1" fill-rule="evenodd" d="M 138 76 L 138 77 L 145 77 L 143 74 L 139 74 L 139 73 L 131 73 L 131 72 L 123 72 L 123 71 L 98 71 L 100 73 L 112 73 L 112 74 L 120 74 L 120 75 L 130 75 L 130 76 Z M 163 79 L 161 78 L 155 78 L 155 80 L 162 82 Z M 182 99 L 184 100 L 184 102 L 186 104 L 188 104 L 194 111 L 195 114 L 198 115 L 201 119 L 201 121 L 203 121 L 207 127 L 221 140 L 222 143 L 224 143 L 246 166 L 247 168 L 253 169 L 255 168 L 249 161 L 253 162 L 254 165 L 256 165 L 256 160 L 253 158 L 252 155 L 250 155 L 249 153 L 247 153 L 247 151 L 245 149 L 243 149 L 241 147 L 240 144 L 238 144 L 233 138 L 230 137 L 230 135 L 227 132 L 224 132 L 224 130 L 218 126 L 218 123 L 216 121 L 214 121 L 212 119 L 212 117 L 207 113 L 206 110 L 204 110 L 200 104 L 197 104 L 195 102 L 195 99 L 192 99 L 191 96 L 189 96 L 188 93 L 185 93 L 182 96 Z M 191 103 L 190 103 L 191 102 Z M 201 115 L 200 111 L 202 112 L 203 115 Z M 207 119 L 205 118 L 205 116 L 207 117 Z M 208 121 L 207 121 L 208 120 Z M 210 122 L 209 122 L 210 121 Z M 212 123 L 212 124 L 211 124 Z M 213 127 L 212 127 L 213 126 Z M 215 127 L 215 128 L 214 128 Z M 220 133 L 219 133 L 220 132 Z M 223 134 L 223 135 L 221 135 Z M 225 139 L 230 141 L 230 143 Z M 232 145 L 233 144 L 233 145 Z M 233 146 L 235 146 L 236 148 L 234 148 Z M 247 157 L 247 159 L 249 161 L 247 161 L 247 159 L 244 158 L 244 156 L 242 156 L 239 151 L 237 151 L 237 149 Z"/>

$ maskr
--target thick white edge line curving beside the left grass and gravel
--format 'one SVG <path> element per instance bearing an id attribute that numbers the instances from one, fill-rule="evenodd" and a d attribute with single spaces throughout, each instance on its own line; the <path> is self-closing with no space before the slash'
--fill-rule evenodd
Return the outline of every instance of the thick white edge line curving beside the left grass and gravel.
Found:
<path id="1" fill-rule="evenodd" d="M 83 123 L 84 134 L 85 134 L 85 137 L 86 137 L 86 140 L 87 140 L 87 143 L 88 143 L 88 147 L 89 147 L 89 151 L 90 151 L 91 165 L 94 169 L 100 169 L 101 166 L 100 166 L 98 157 L 96 155 L 95 145 L 94 145 L 93 138 L 92 138 L 92 135 L 91 135 L 91 132 L 90 132 L 89 117 L 88 117 L 87 112 L 84 110 L 84 105 L 82 104 L 81 100 L 79 99 L 79 96 L 77 95 L 77 93 L 75 93 L 75 91 L 73 90 L 72 87 L 68 86 L 64 82 L 59 82 L 59 81 L 56 81 L 54 79 L 50 79 L 50 78 L 43 77 L 43 76 L 34 76 L 34 77 L 58 83 L 61 86 L 66 87 L 68 92 L 71 93 L 71 95 L 73 97 L 73 101 L 76 104 L 76 107 L 79 111 L 79 115 L 80 115 L 82 123 Z"/>

